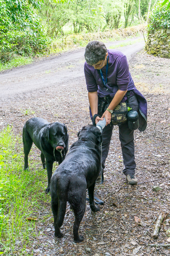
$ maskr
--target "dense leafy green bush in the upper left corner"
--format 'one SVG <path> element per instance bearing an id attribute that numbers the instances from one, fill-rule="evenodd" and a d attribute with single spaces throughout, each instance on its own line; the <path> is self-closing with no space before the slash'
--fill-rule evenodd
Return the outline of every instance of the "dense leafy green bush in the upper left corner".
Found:
<path id="1" fill-rule="evenodd" d="M 35 12 L 41 6 L 36 0 L 0 0 L 0 60 L 47 49 L 48 40 Z"/>

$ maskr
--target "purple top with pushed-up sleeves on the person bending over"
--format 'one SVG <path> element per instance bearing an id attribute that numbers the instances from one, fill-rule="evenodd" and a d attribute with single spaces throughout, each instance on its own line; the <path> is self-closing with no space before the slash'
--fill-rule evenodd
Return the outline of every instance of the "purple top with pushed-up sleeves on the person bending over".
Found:
<path id="1" fill-rule="evenodd" d="M 126 56 L 122 52 L 114 49 L 108 50 L 108 56 L 109 66 L 106 84 L 108 90 L 104 86 L 97 69 L 88 65 L 86 62 L 84 64 L 84 73 L 87 90 L 89 92 L 97 91 L 99 97 L 110 95 L 113 98 L 118 89 L 121 91 L 126 91 L 128 87 L 134 86 L 134 83 L 129 72 Z M 106 66 L 104 66 L 101 70 L 106 80 Z M 126 100 L 126 96 L 122 101 L 124 100 Z"/>

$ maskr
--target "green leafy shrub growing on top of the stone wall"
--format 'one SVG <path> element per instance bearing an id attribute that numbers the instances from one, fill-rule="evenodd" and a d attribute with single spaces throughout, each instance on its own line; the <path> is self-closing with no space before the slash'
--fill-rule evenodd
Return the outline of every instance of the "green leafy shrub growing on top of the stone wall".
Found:
<path id="1" fill-rule="evenodd" d="M 148 30 L 155 28 L 168 28 L 170 27 L 170 9 L 167 9 L 168 4 L 162 6 L 162 1 L 158 2 L 150 13 L 150 23 Z"/>

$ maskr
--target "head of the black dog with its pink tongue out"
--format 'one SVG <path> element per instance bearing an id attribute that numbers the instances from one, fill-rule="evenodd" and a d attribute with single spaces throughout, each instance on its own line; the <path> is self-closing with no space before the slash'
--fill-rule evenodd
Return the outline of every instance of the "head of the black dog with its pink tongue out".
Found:
<path id="1" fill-rule="evenodd" d="M 67 144 L 67 127 L 65 124 L 54 122 L 46 126 L 43 131 L 45 139 L 53 148 L 62 151 Z"/>

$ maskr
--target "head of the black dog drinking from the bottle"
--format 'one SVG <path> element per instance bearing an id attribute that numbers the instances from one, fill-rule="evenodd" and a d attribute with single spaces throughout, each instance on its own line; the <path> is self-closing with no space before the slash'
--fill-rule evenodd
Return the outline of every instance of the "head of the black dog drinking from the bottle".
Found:
<path id="1" fill-rule="evenodd" d="M 83 126 L 77 133 L 77 136 L 81 140 L 89 140 L 95 142 L 98 146 L 102 143 L 102 134 L 100 130 L 94 125 Z"/>

